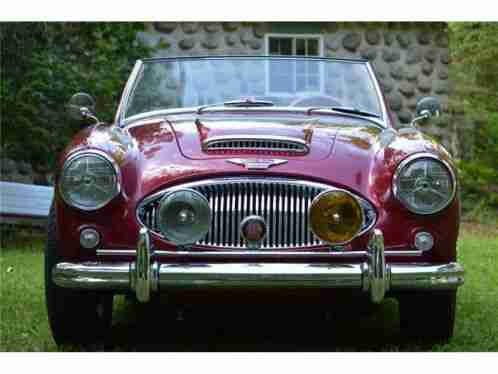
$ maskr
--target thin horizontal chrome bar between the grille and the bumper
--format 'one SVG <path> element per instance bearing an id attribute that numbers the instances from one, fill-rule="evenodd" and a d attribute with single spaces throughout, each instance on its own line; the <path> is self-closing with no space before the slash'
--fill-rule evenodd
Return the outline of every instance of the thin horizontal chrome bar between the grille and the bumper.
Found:
<path id="1" fill-rule="evenodd" d="M 97 249 L 97 256 L 136 256 L 134 249 Z M 422 251 L 384 251 L 386 257 L 420 257 L 424 254 Z M 345 252 L 318 252 L 318 251 L 243 251 L 243 250 L 226 250 L 226 251 L 154 251 L 154 257 L 161 258 L 237 258 L 250 256 L 253 258 L 351 258 L 366 257 L 367 251 L 345 251 Z"/>

